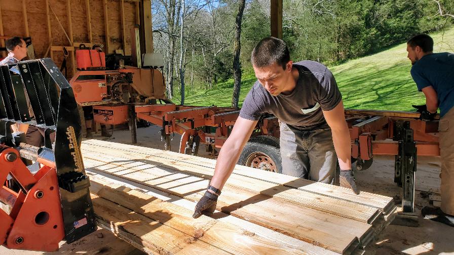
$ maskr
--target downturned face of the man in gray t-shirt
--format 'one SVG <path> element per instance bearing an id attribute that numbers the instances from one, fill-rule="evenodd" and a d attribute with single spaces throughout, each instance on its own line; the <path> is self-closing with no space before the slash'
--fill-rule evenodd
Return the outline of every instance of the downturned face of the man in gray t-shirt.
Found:
<path id="1" fill-rule="evenodd" d="M 263 88 L 265 88 L 271 95 L 277 96 L 283 91 L 286 92 L 288 79 L 291 75 L 292 61 L 287 63 L 285 70 L 277 63 L 260 68 L 253 66 L 253 68 L 255 77 L 257 77 Z"/>

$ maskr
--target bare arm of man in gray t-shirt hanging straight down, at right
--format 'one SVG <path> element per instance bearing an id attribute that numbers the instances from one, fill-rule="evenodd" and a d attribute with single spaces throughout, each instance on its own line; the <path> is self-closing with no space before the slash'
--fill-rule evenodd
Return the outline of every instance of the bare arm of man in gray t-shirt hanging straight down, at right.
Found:
<path id="1" fill-rule="evenodd" d="M 344 104 L 341 101 L 334 109 L 323 111 L 323 115 L 331 128 L 332 141 L 341 170 L 351 169 L 352 142 L 350 140 L 349 127 L 345 120 Z"/>

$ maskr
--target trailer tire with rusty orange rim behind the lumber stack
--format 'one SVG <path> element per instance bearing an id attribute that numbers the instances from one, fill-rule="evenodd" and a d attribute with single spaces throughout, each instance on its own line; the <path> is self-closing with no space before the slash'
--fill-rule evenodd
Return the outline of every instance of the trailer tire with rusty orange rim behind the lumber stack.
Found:
<path id="1" fill-rule="evenodd" d="M 282 159 L 279 139 L 272 136 L 256 136 L 249 139 L 237 164 L 281 174 Z"/>

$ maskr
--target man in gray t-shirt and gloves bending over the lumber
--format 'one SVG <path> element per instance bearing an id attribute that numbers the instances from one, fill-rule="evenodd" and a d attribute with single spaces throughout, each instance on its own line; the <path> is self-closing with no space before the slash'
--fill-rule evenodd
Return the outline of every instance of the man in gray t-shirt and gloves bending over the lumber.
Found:
<path id="1" fill-rule="evenodd" d="M 328 68 L 314 61 L 293 63 L 284 41 L 275 37 L 255 46 L 251 62 L 258 80 L 219 152 L 210 186 L 193 217 L 214 211 L 220 190 L 262 113 L 274 114 L 281 123 L 283 174 L 334 184 L 338 159 L 341 186 L 358 194 L 342 96 Z"/>

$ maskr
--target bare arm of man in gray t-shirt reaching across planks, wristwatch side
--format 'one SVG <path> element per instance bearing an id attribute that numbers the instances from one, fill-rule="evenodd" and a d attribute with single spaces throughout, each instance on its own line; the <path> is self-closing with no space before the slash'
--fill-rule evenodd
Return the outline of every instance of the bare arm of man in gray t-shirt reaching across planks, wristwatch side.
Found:
<path id="1" fill-rule="evenodd" d="M 249 140 L 256 124 L 256 120 L 249 120 L 242 117 L 238 117 L 237 121 L 235 121 L 232 133 L 224 145 L 222 145 L 219 156 L 217 157 L 214 175 L 210 182 L 211 186 L 222 189 L 232 174 L 241 151 Z"/>

